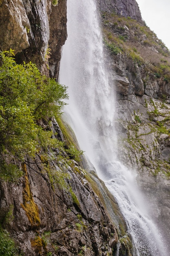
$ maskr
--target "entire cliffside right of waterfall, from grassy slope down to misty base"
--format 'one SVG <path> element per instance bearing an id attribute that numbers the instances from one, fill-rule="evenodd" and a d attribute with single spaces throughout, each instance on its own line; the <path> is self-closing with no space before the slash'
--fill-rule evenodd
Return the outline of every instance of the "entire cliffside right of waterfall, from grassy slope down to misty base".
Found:
<path id="1" fill-rule="evenodd" d="M 117 92 L 119 158 L 138 173 L 152 218 L 170 239 L 170 52 L 144 24 L 102 13 L 113 86 Z"/>

